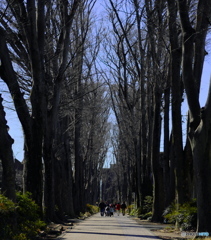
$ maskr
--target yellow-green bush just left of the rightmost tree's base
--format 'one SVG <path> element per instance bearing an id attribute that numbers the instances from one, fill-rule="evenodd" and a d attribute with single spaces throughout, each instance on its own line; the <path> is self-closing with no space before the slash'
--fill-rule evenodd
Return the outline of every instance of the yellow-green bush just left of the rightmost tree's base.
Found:
<path id="1" fill-rule="evenodd" d="M 182 230 L 195 230 L 197 226 L 196 199 L 183 205 L 172 203 L 163 213 L 166 222 L 177 224 Z"/>

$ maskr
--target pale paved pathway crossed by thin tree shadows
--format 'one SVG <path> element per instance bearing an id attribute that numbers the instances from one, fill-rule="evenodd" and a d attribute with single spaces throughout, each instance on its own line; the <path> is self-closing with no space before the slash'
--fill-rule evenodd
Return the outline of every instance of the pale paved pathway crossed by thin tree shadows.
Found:
<path id="1" fill-rule="evenodd" d="M 127 216 L 96 214 L 73 227 L 59 240 L 156 240 L 152 232 Z"/>

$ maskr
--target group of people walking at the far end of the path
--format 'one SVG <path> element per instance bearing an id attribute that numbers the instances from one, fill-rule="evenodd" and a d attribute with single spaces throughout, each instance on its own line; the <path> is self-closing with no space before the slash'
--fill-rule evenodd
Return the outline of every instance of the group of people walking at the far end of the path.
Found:
<path id="1" fill-rule="evenodd" d="M 100 202 L 99 204 L 99 208 L 100 208 L 100 214 L 101 216 L 113 216 L 114 212 L 117 213 L 117 215 L 119 216 L 121 210 L 122 210 L 122 215 L 125 215 L 125 210 L 127 208 L 127 205 L 125 204 L 125 202 L 123 202 L 122 204 L 120 203 L 116 203 L 116 204 L 112 204 L 112 203 L 105 203 L 104 201 Z"/>

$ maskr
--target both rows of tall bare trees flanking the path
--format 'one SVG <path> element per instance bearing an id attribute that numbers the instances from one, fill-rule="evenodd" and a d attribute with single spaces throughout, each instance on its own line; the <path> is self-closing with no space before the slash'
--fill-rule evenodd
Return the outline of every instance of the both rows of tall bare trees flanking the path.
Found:
<path id="1" fill-rule="evenodd" d="M 196 197 L 198 230 L 211 232 L 211 93 L 203 108 L 199 102 L 211 3 L 109 0 L 106 28 L 92 14 L 95 4 L 1 2 L 0 77 L 24 132 L 24 191 L 51 220 L 94 203 L 111 105 L 122 199 L 130 203 L 135 193 L 141 207 L 153 195 L 152 219 L 160 221 L 172 201 Z M 3 190 L 14 199 L 13 142 L 0 113 Z"/>

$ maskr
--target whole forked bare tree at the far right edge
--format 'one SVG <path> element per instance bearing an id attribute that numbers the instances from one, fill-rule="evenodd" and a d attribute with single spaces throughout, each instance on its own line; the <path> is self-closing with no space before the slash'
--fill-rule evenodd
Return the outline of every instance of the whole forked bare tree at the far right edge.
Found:
<path id="1" fill-rule="evenodd" d="M 186 1 L 177 1 L 182 28 L 182 78 L 189 106 L 189 140 L 197 188 L 198 231 L 210 232 L 211 226 L 208 222 L 211 217 L 209 153 L 211 91 L 203 108 L 199 103 L 199 92 L 205 58 L 205 42 L 211 19 L 211 4 L 206 0 L 190 3 L 194 4 L 196 17 L 191 14 L 191 8 Z"/>

